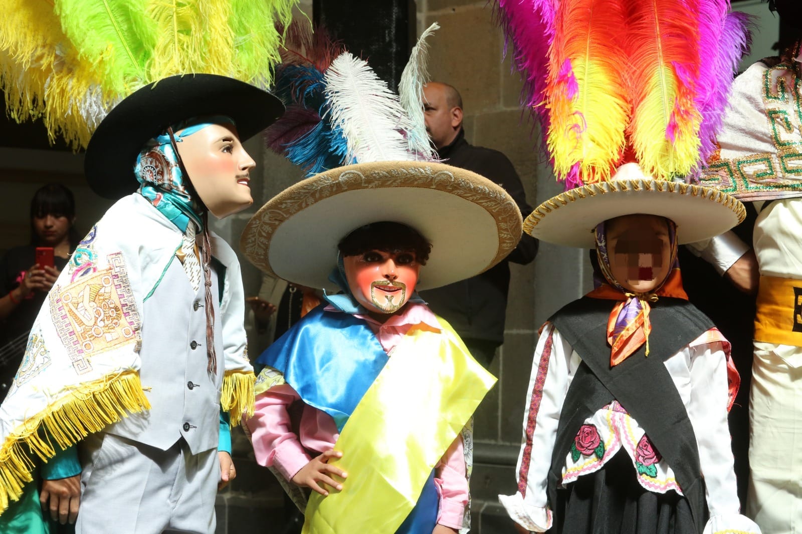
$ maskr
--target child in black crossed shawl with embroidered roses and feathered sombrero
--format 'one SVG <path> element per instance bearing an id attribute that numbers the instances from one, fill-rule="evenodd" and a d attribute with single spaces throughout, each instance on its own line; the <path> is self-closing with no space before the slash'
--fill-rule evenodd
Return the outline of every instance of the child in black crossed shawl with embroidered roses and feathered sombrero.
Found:
<path id="1" fill-rule="evenodd" d="M 674 181 L 712 145 L 720 110 L 706 106 L 722 97 L 703 92 L 723 84 L 726 99 L 733 76 L 726 61 L 706 78 L 700 43 L 715 30 L 717 49 L 739 55 L 743 18 L 723 2 L 531 3 L 500 12 L 567 191 L 524 228 L 595 247 L 595 289 L 541 329 L 517 492 L 500 502 L 520 532 L 758 533 L 739 513 L 729 344 L 687 301 L 676 259 L 743 220 L 731 196 Z M 520 26 L 527 8 L 539 26 Z"/>

